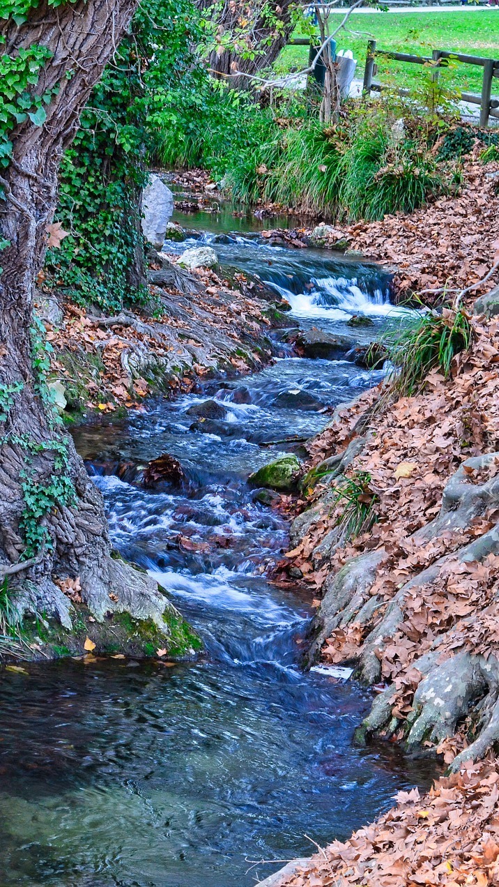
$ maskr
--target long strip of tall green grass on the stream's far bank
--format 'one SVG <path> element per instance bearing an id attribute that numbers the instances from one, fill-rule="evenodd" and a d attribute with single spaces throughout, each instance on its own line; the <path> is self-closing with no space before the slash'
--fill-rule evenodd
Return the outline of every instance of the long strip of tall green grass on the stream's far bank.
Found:
<path id="1" fill-rule="evenodd" d="M 300 101 L 261 107 L 201 82 L 176 97 L 154 160 L 202 166 L 241 203 L 262 200 L 330 220 L 408 213 L 447 190 L 448 167 L 430 153 L 428 127 L 418 128 L 409 106 L 351 106 L 325 127 Z"/>

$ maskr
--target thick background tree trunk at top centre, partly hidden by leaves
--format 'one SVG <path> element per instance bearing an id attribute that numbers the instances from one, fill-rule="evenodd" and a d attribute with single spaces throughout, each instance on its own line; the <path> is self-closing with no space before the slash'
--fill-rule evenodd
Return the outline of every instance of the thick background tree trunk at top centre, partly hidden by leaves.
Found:
<path id="1" fill-rule="evenodd" d="M 270 0 L 269 3 L 251 0 L 248 4 L 226 0 L 222 9 L 217 8 L 213 12 L 218 22 L 219 34 L 236 34 L 238 27 L 241 27 L 240 20 L 248 20 L 251 26 L 247 27 L 247 46 L 243 39 L 241 43 L 245 43 L 245 49 L 255 50 L 256 54 L 253 59 L 246 59 L 244 52 L 214 50 L 209 57 L 211 73 L 229 82 L 235 90 L 251 90 L 255 85 L 258 86 L 251 75 L 258 75 L 272 65 L 288 42 L 292 33 L 292 7 L 295 4 L 296 0 Z M 209 12 L 213 0 L 196 0 L 196 5 Z M 271 16 L 275 16 L 282 27 L 277 28 Z"/>

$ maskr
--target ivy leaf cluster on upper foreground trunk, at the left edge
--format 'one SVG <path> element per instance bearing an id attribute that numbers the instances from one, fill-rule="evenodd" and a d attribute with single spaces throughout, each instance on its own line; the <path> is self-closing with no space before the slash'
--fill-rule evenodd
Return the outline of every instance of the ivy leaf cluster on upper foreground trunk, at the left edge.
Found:
<path id="1" fill-rule="evenodd" d="M 51 91 L 38 96 L 30 91 L 38 82 L 40 71 L 51 51 L 45 46 L 22 47 L 15 56 L 0 56 L 0 167 L 7 167 L 12 155 L 12 130 L 29 117 L 42 126 L 47 116 L 43 105 L 51 101 Z"/>

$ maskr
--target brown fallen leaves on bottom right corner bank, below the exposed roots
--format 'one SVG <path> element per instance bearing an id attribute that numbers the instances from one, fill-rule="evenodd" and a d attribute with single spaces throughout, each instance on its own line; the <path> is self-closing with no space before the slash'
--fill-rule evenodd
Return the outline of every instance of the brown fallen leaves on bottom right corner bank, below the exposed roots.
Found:
<path id="1" fill-rule="evenodd" d="M 279 887 L 488 887 L 499 883 L 499 772 L 465 765 L 344 842 L 334 841 Z"/>

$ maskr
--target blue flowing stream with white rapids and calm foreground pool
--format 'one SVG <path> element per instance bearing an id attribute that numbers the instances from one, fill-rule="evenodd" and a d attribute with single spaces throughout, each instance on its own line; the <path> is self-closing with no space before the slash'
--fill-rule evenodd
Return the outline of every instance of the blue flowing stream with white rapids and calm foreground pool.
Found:
<path id="1" fill-rule="evenodd" d="M 217 248 L 227 266 L 287 296 L 290 326 L 320 318 L 344 333 L 359 311 L 386 323 L 388 280 L 372 267 L 240 235 Z M 2 887 L 249 887 L 279 867 L 253 861 L 308 855 L 310 838 L 345 838 L 396 790 L 428 784 L 428 765 L 355 748 L 370 693 L 300 671 L 308 594 L 265 578 L 288 526 L 256 501 L 247 475 L 379 378 L 347 360 L 282 354 L 261 373 L 150 404 L 122 427 L 75 434 L 115 545 L 168 589 L 206 654 L 172 667 L 2 672 Z M 222 418 L 204 433 L 188 411 L 207 399 Z M 182 463 L 182 489 L 144 491 L 120 468 L 165 452 Z"/>

